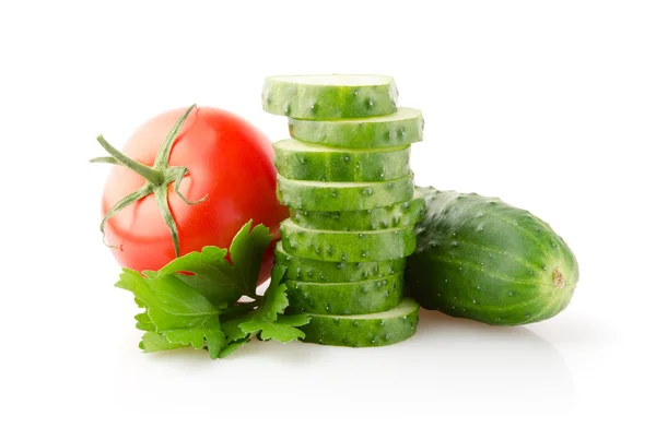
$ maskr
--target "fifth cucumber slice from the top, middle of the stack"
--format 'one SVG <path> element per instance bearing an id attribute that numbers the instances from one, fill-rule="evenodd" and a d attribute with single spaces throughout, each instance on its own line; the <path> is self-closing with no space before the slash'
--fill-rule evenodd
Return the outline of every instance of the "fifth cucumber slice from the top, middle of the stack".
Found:
<path id="1" fill-rule="evenodd" d="M 414 191 L 411 201 L 365 211 L 290 210 L 290 218 L 298 226 L 324 230 L 379 230 L 412 226 L 423 219 L 426 201 Z"/>

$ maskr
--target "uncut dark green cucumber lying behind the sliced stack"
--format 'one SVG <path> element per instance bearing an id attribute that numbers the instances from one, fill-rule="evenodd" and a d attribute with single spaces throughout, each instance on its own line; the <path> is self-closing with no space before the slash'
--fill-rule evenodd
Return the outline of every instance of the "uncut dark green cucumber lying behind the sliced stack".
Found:
<path id="1" fill-rule="evenodd" d="M 422 307 L 490 325 L 538 322 L 567 307 L 578 263 L 547 223 L 495 198 L 425 191 L 406 268 L 406 288 Z"/>

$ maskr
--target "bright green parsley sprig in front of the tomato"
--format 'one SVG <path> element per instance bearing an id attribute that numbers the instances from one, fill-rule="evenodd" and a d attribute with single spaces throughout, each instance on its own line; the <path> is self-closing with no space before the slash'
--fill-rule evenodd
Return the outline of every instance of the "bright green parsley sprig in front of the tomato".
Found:
<path id="1" fill-rule="evenodd" d="M 139 347 L 145 353 L 179 347 L 207 348 L 224 358 L 253 337 L 289 342 L 303 338 L 305 314 L 284 316 L 289 306 L 285 268 L 274 266 L 263 296 L 256 294 L 262 258 L 272 237 L 269 229 L 248 222 L 227 250 L 206 247 L 180 257 L 160 271 L 124 269 L 119 288 L 134 295 L 145 311 L 134 317 L 144 331 Z M 253 299 L 238 301 L 243 296 Z"/>

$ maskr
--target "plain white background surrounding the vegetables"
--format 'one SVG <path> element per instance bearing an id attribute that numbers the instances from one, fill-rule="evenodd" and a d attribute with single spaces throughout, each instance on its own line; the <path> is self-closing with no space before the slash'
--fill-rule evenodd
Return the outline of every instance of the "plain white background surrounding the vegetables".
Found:
<path id="1" fill-rule="evenodd" d="M 0 425 L 654 426 L 654 2 L 1 4 Z M 141 354 L 95 136 L 198 103 L 284 138 L 259 104 L 281 73 L 394 75 L 426 120 L 417 182 L 550 223 L 581 264 L 571 306 L 505 329 L 424 311 L 387 348 Z"/>

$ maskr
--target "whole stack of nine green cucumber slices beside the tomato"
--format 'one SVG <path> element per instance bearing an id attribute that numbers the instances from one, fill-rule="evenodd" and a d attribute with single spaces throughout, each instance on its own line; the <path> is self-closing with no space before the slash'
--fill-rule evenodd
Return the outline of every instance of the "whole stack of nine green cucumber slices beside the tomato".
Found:
<path id="1" fill-rule="evenodd" d="M 273 144 L 278 197 L 290 209 L 276 259 L 290 311 L 312 318 L 305 342 L 382 346 L 417 331 L 403 268 L 425 211 L 410 169 L 423 118 L 397 97 L 383 75 L 265 81 L 263 109 L 289 117 L 291 139 Z"/>

